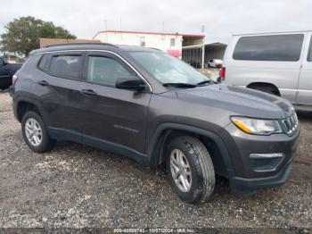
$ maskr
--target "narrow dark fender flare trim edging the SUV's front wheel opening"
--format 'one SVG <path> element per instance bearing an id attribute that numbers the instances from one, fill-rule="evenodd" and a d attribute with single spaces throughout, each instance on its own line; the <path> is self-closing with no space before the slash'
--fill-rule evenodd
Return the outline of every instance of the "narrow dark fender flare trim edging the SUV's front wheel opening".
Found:
<path id="1" fill-rule="evenodd" d="M 158 126 L 154 131 L 152 138 L 147 146 L 146 164 L 149 164 L 152 167 L 157 165 L 160 160 L 160 152 L 162 151 L 164 142 L 171 130 L 184 130 L 212 140 L 218 146 L 218 149 L 221 153 L 223 163 L 226 166 L 226 173 L 228 178 L 231 179 L 234 177 L 234 166 L 231 161 L 229 151 L 226 147 L 226 143 L 217 133 L 210 130 L 203 130 L 190 125 L 173 122 L 161 123 L 160 126 Z M 160 147 L 156 148 L 157 146 Z"/>

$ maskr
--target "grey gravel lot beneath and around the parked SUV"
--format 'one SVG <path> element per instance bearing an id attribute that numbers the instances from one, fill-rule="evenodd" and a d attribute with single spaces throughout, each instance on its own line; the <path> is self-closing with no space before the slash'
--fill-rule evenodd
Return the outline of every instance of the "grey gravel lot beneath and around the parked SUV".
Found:
<path id="1" fill-rule="evenodd" d="M 186 205 L 166 173 L 88 146 L 31 152 L 11 98 L 0 93 L 0 227 L 312 228 L 312 114 L 300 113 L 300 147 L 280 188 L 233 196 L 218 179 L 212 200 Z M 308 232 L 308 230 L 302 230 Z"/>

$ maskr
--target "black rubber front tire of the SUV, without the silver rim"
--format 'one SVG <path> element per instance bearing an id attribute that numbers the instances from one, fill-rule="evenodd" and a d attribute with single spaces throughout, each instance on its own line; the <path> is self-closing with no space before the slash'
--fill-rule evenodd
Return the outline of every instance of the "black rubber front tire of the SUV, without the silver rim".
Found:
<path id="1" fill-rule="evenodd" d="M 191 169 L 192 182 L 189 191 L 177 187 L 170 168 L 170 155 L 175 149 L 183 152 Z M 167 171 L 172 188 L 182 201 L 189 204 L 205 202 L 215 188 L 215 170 L 207 148 L 198 138 L 189 136 L 174 138 L 167 147 Z"/>

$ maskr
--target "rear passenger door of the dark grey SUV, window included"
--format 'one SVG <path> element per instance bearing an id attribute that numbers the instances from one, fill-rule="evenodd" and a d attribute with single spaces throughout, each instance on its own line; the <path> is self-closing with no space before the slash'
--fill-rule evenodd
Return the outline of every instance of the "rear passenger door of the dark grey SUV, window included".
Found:
<path id="1" fill-rule="evenodd" d="M 33 92 L 44 106 L 47 126 L 59 137 L 81 139 L 78 114 L 83 58 L 83 52 L 45 54 L 38 64 Z"/>

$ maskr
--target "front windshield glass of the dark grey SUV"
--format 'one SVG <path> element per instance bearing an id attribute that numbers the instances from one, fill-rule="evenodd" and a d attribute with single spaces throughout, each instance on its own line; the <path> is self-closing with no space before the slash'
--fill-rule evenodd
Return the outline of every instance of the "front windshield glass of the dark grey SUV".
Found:
<path id="1" fill-rule="evenodd" d="M 195 85 L 209 79 L 190 65 L 169 54 L 142 51 L 130 52 L 130 54 L 137 63 L 162 84 L 187 83 Z"/>

